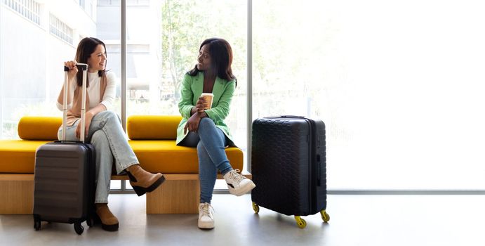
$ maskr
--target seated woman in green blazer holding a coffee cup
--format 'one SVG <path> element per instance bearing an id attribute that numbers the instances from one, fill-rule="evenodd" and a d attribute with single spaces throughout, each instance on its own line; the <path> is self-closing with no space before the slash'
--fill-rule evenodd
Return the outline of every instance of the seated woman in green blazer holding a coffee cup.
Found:
<path id="1" fill-rule="evenodd" d="M 232 169 L 225 154 L 225 146 L 234 146 L 224 123 L 237 83 L 231 69 L 232 48 L 224 39 L 206 39 L 199 48 L 197 62 L 185 74 L 180 90 L 178 110 L 183 118 L 177 129 L 177 145 L 197 146 L 201 186 L 198 226 L 214 228 L 211 199 L 217 172 L 221 172 L 234 195 L 248 193 L 255 185 Z M 213 93 L 211 107 L 201 93 Z"/>

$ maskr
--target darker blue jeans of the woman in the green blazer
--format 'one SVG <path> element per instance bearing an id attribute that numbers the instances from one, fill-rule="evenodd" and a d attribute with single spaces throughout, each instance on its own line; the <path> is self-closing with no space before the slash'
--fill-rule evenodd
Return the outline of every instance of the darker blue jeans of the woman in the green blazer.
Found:
<path id="1" fill-rule="evenodd" d="M 189 147 L 197 145 L 201 186 L 200 202 L 211 203 L 218 170 L 222 175 L 232 170 L 225 153 L 226 136 L 221 129 L 215 127 L 212 119 L 204 117 L 199 122 L 197 133 L 191 131 L 179 145 Z"/>

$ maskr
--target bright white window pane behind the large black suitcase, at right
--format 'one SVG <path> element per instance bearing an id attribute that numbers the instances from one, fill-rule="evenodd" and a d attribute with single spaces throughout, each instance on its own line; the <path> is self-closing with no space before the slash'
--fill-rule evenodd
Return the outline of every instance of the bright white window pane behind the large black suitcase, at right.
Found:
<path id="1" fill-rule="evenodd" d="M 484 189 L 484 7 L 253 1 L 253 117 L 323 119 L 329 188 Z"/>

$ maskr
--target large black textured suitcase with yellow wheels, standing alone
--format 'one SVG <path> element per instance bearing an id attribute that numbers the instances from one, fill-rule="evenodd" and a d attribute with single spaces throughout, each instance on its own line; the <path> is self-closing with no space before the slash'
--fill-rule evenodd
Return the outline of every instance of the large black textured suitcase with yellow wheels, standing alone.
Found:
<path id="1" fill-rule="evenodd" d="M 252 131 L 251 192 L 253 209 L 259 206 L 286 215 L 326 213 L 325 124 L 298 116 L 255 119 Z"/>

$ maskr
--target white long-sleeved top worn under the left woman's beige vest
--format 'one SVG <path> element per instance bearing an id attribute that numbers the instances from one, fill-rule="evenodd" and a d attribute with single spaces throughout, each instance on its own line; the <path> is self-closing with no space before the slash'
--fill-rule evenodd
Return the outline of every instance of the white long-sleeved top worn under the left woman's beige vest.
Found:
<path id="1" fill-rule="evenodd" d="M 106 110 L 110 110 L 114 101 L 114 97 L 116 96 L 117 90 L 117 77 L 114 75 L 114 72 L 106 72 L 107 84 L 105 89 L 105 95 L 102 97 L 102 105 L 105 105 Z M 100 82 L 101 77 L 98 76 L 98 72 L 88 72 L 88 80 L 89 80 L 89 87 L 86 89 L 89 95 L 89 108 L 96 107 L 100 101 Z M 72 101 L 74 100 L 74 90 L 76 89 L 77 79 L 72 79 L 69 82 L 69 91 L 72 91 L 71 98 L 68 98 L 68 102 L 71 102 L 67 105 L 67 109 L 72 108 Z M 56 102 L 58 109 L 62 111 L 62 104 Z"/>

